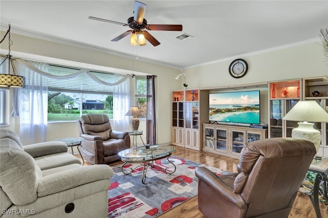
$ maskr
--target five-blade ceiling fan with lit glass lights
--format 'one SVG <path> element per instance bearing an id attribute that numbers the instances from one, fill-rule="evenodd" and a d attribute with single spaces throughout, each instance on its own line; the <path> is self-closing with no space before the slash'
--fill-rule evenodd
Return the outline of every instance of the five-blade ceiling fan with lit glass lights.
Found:
<path id="1" fill-rule="evenodd" d="M 160 44 L 159 41 L 157 41 L 154 36 L 152 36 L 149 32 L 147 32 L 144 29 L 147 30 L 162 30 L 162 31 L 182 31 L 182 25 L 162 25 L 162 24 L 147 24 L 147 20 L 144 18 L 145 12 L 146 12 L 146 7 L 147 5 L 138 1 L 134 2 L 134 16 L 130 17 L 128 19 L 128 24 L 112 21 L 112 20 L 107 20 L 103 18 L 98 18 L 98 17 L 92 17 L 89 16 L 89 19 L 94 19 L 94 20 L 99 20 L 99 21 L 104 21 L 108 22 L 111 24 L 118 24 L 122 26 L 127 26 L 130 27 L 132 30 L 128 30 L 116 38 L 113 38 L 111 41 L 118 41 L 125 36 L 129 35 L 132 33 L 131 38 L 130 38 L 130 43 L 133 46 L 137 45 L 137 42 L 139 42 L 140 46 L 146 45 L 146 40 L 145 38 L 153 45 L 153 46 L 158 46 Z M 137 40 L 137 35 L 139 35 L 138 40 Z"/>

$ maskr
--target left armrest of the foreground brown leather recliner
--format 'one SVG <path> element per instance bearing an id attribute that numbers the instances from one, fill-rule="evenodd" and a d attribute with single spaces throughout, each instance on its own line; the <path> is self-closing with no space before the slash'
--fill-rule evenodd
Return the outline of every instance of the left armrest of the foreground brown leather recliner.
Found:
<path id="1" fill-rule="evenodd" d="M 237 205 L 241 209 L 247 209 L 247 204 L 243 200 L 240 194 L 234 193 L 233 188 L 229 187 L 222 180 L 224 178 L 233 177 L 235 178 L 237 173 L 232 173 L 231 175 L 217 176 L 214 172 L 205 167 L 197 167 L 195 175 L 198 178 L 198 182 L 203 182 L 214 192 L 220 195 L 226 201 L 229 201 Z"/>

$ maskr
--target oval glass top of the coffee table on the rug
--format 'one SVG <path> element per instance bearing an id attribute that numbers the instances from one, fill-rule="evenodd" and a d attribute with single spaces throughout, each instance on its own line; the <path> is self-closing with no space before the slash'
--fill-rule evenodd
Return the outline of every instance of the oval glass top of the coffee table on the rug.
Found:
<path id="1" fill-rule="evenodd" d="M 147 161 L 166 157 L 172 154 L 174 150 L 175 147 L 171 145 L 149 145 L 122 150 L 118 152 L 118 156 L 120 156 L 123 161 Z"/>

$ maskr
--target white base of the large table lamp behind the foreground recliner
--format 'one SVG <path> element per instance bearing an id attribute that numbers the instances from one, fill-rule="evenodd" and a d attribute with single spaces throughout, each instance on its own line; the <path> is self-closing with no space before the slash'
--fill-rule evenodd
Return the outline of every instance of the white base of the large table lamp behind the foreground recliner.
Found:
<path id="1" fill-rule="evenodd" d="M 313 142 L 318 152 L 321 142 L 321 133 L 313 128 L 314 123 L 299 122 L 297 128 L 292 130 L 292 138 L 306 139 Z"/>

